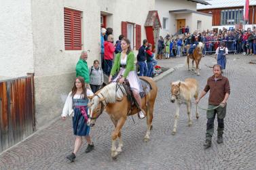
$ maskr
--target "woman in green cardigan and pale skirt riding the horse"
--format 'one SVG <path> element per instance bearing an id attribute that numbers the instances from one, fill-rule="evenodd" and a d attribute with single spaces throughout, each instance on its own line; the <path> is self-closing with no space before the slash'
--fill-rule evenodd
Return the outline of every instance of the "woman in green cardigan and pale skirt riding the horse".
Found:
<path id="1" fill-rule="evenodd" d="M 119 81 L 120 83 L 124 82 L 124 79 L 127 79 L 130 83 L 130 88 L 132 89 L 132 93 L 136 102 L 139 104 L 140 112 L 138 116 L 140 119 L 145 118 L 145 111 L 141 108 L 141 96 L 140 92 L 143 91 L 141 86 L 141 81 L 139 80 L 138 75 L 135 72 L 134 60 L 135 56 L 130 47 L 130 40 L 123 39 L 121 41 L 122 52 L 115 56 L 115 62 L 111 69 L 111 73 L 109 76 L 109 83 L 112 80 L 113 75 L 118 72 L 117 77 L 113 79 L 113 82 Z"/>

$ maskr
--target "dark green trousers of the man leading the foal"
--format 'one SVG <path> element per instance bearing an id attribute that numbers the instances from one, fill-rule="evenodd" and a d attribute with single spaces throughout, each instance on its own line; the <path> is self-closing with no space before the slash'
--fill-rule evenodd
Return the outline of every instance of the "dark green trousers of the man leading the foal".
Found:
<path id="1" fill-rule="evenodd" d="M 215 108 L 215 105 L 208 105 L 208 109 Z M 217 114 L 217 121 L 218 121 L 218 135 L 223 134 L 224 130 L 224 118 L 226 114 L 227 105 L 224 108 L 216 108 L 215 110 L 207 110 L 207 124 L 206 124 L 206 141 L 211 141 L 214 132 L 214 120 L 215 115 Z"/>

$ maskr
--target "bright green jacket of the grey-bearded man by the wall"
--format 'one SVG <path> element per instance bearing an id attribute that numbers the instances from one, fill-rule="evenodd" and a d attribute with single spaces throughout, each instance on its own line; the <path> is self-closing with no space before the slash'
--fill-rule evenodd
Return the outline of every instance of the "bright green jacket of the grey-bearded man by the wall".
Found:
<path id="1" fill-rule="evenodd" d="M 77 72 L 76 77 L 84 77 L 84 81 L 90 83 L 89 68 L 86 61 L 80 59 L 75 66 L 75 71 Z"/>

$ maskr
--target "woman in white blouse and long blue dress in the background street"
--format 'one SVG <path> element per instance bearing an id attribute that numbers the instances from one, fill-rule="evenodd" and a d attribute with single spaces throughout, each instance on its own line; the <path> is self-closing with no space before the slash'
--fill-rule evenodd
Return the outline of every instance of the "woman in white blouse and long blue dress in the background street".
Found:
<path id="1" fill-rule="evenodd" d="M 228 49 L 225 47 L 225 42 L 221 42 L 221 47 L 217 47 L 216 55 L 217 55 L 217 64 L 221 65 L 221 70 L 225 69 L 225 56 L 228 54 Z"/>

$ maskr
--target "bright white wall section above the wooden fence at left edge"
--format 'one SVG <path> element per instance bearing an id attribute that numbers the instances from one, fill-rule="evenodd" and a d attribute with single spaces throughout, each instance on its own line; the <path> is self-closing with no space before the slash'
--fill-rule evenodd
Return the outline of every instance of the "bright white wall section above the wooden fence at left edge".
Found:
<path id="1" fill-rule="evenodd" d="M 1 1 L 0 11 L 0 76 L 34 72 L 31 0 Z"/>

